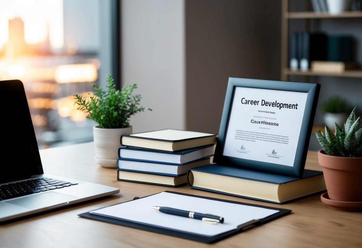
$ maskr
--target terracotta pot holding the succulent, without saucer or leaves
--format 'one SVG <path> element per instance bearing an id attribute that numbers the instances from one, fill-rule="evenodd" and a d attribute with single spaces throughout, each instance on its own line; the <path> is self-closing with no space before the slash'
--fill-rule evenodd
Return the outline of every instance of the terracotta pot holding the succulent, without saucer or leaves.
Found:
<path id="1" fill-rule="evenodd" d="M 328 197 L 333 201 L 362 202 L 362 157 L 345 158 L 318 151 Z"/>

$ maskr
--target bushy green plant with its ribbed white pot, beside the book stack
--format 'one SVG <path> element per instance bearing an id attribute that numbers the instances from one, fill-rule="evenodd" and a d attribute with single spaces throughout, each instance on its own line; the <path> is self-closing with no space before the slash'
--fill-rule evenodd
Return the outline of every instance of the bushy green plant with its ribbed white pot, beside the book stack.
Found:
<path id="1" fill-rule="evenodd" d="M 99 85 L 92 86 L 96 92 L 87 96 L 75 94 L 77 109 L 88 113 L 87 119 L 94 120 L 98 125 L 93 127 L 96 161 L 103 167 L 116 167 L 118 158 L 119 138 L 122 134 L 132 133 L 130 116 L 149 107 L 140 107 L 141 95 L 132 95 L 136 84 L 125 85 L 117 90 L 111 74 L 107 75 L 108 90 Z"/>

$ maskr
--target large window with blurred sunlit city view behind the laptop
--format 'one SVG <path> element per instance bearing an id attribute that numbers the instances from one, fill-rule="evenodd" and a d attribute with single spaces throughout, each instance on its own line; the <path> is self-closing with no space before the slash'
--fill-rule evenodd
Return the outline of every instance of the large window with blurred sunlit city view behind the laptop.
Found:
<path id="1" fill-rule="evenodd" d="M 93 140 L 73 95 L 119 78 L 118 4 L 0 0 L 0 80 L 24 83 L 39 148 Z"/>

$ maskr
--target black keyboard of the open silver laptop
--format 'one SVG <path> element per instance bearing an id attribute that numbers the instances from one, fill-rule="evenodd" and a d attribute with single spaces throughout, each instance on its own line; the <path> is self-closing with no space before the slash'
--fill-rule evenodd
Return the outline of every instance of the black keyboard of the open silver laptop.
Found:
<path id="1" fill-rule="evenodd" d="M 0 200 L 6 200 L 18 196 L 26 196 L 52 189 L 70 187 L 77 183 L 56 180 L 52 178 L 37 178 L 17 183 L 0 185 Z"/>

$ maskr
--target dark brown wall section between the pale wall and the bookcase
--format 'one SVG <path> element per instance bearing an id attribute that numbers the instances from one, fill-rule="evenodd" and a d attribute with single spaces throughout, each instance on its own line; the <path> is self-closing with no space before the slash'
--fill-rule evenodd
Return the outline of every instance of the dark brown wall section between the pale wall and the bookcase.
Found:
<path id="1" fill-rule="evenodd" d="M 218 133 L 229 77 L 280 79 L 281 3 L 186 0 L 186 127 Z"/>

